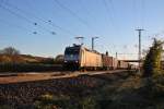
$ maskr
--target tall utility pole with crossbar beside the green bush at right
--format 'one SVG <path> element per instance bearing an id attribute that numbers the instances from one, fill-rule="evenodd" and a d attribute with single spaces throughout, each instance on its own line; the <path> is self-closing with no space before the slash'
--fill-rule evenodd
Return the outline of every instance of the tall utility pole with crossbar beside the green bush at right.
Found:
<path id="1" fill-rule="evenodd" d="M 139 73 L 141 72 L 141 32 L 144 29 L 136 29 L 139 32 Z"/>

